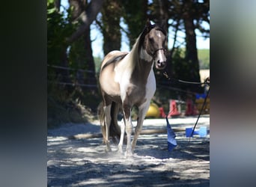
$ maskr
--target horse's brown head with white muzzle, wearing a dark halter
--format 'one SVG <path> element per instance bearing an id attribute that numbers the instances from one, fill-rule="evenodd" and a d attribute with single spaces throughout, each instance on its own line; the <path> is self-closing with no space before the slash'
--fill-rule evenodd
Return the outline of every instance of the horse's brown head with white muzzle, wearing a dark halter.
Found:
<path id="1" fill-rule="evenodd" d="M 142 44 L 144 50 L 153 58 L 156 69 L 164 69 L 166 67 L 165 31 L 158 25 L 151 25 L 148 21 L 144 32 L 144 43 Z"/>

